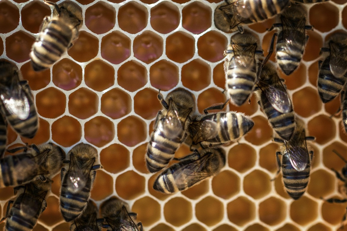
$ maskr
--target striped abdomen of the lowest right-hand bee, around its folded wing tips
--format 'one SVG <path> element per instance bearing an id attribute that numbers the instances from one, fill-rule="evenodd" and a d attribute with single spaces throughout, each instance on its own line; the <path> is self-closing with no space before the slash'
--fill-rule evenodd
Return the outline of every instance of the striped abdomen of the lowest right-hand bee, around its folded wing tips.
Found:
<path id="1" fill-rule="evenodd" d="M 288 153 L 285 151 L 282 155 L 282 175 L 283 184 L 287 193 L 293 199 L 299 199 L 306 191 L 308 180 L 310 179 L 311 164 L 308 159 L 306 168 L 299 172 L 293 168 L 290 163 Z"/>

